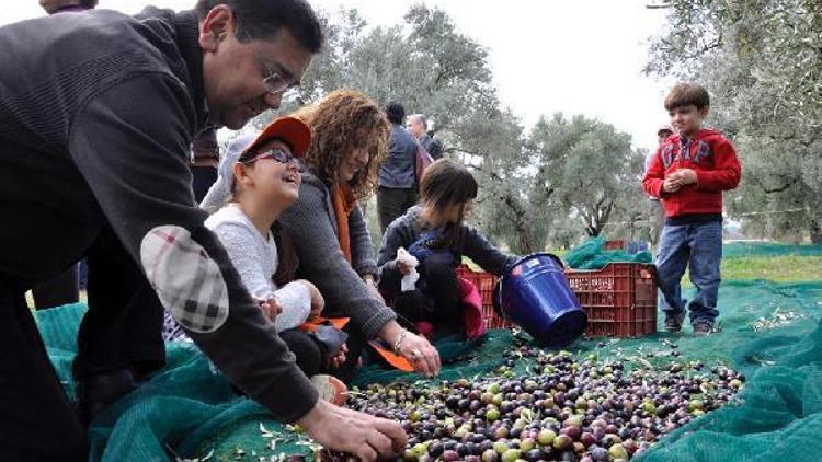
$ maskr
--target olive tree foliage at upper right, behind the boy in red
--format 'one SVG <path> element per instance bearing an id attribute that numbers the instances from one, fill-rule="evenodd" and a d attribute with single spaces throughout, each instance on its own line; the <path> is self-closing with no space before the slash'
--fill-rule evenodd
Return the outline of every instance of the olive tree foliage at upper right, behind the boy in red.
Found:
<path id="1" fill-rule="evenodd" d="M 745 230 L 822 243 L 822 1 L 673 0 L 648 72 L 697 80 L 737 142 Z"/>

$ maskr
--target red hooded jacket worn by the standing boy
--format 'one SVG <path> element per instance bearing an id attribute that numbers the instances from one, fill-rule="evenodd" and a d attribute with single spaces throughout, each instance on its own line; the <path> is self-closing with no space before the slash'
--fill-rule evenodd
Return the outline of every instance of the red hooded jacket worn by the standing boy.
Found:
<path id="1" fill-rule="evenodd" d="M 662 190 L 669 174 L 678 169 L 696 172 L 696 183 L 676 193 Z M 733 146 L 719 131 L 701 129 L 692 139 L 670 136 L 657 150 L 642 186 L 646 193 L 662 199 L 667 218 L 696 213 L 721 213 L 722 192 L 739 185 L 742 168 Z"/>

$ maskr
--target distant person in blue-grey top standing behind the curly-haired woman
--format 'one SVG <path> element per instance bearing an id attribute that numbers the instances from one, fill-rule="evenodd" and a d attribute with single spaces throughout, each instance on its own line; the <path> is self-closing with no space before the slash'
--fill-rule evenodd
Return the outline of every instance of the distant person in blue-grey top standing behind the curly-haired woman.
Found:
<path id="1" fill-rule="evenodd" d="M 391 136 L 388 158 L 383 162 L 377 180 L 377 210 L 383 232 L 391 221 L 416 204 L 414 183 L 419 149 L 416 139 L 402 127 L 406 118 L 406 108 L 402 104 L 388 103 L 386 115 L 391 123 Z"/>

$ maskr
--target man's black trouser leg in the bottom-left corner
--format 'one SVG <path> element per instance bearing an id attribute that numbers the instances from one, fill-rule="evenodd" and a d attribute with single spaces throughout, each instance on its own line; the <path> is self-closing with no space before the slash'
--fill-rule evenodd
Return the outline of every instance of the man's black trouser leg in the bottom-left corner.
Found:
<path id="1" fill-rule="evenodd" d="M 84 461 L 85 431 L 77 419 L 23 288 L 0 281 L 0 459 Z"/>

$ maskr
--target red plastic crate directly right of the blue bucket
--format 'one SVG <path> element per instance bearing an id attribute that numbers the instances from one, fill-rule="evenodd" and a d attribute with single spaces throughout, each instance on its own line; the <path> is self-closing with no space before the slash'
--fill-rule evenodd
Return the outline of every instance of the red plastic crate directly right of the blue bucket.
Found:
<path id="1" fill-rule="evenodd" d="M 639 337 L 657 332 L 653 265 L 610 263 L 598 270 L 566 272 L 587 315 L 585 335 Z"/>

